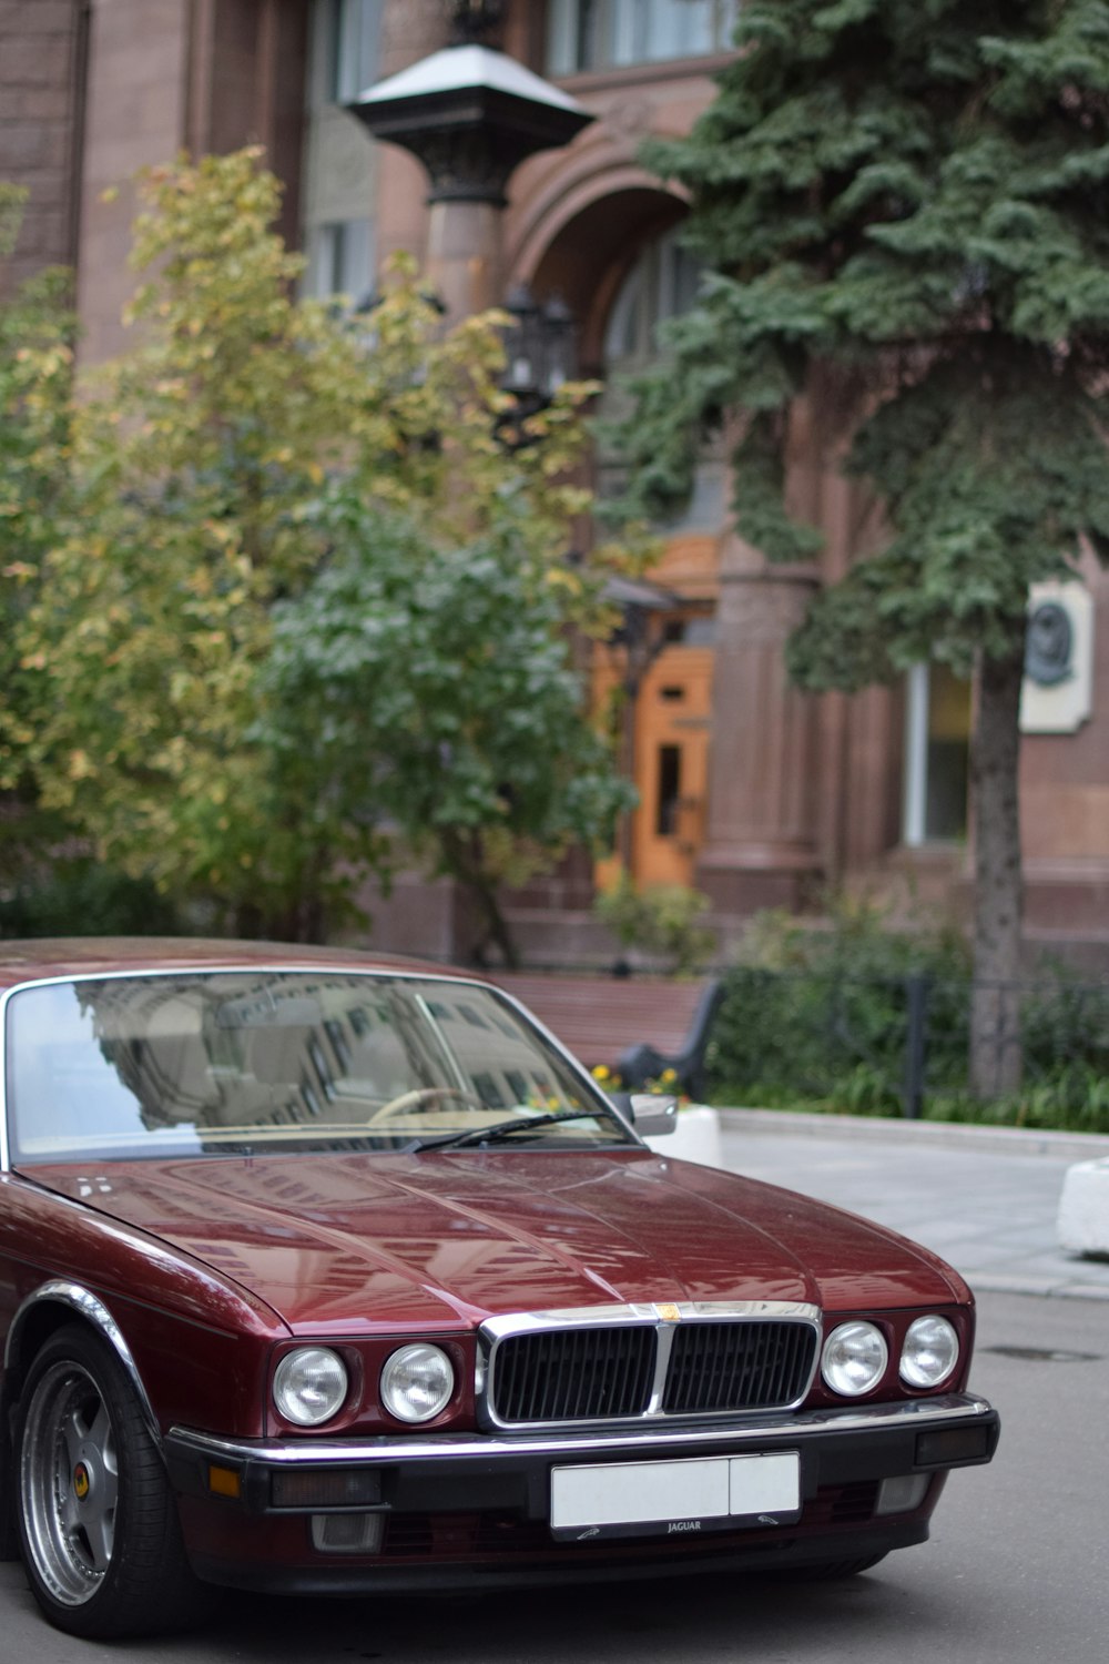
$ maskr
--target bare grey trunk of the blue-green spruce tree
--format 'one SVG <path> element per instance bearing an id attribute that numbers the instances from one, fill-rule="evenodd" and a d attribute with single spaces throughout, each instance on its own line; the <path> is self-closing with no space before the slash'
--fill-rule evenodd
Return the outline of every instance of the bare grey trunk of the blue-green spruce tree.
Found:
<path id="1" fill-rule="evenodd" d="M 974 985 L 971 1092 L 994 1098 L 1021 1085 L 1021 681 L 1024 634 L 1006 659 L 986 659 L 971 745 L 974 817 Z"/>

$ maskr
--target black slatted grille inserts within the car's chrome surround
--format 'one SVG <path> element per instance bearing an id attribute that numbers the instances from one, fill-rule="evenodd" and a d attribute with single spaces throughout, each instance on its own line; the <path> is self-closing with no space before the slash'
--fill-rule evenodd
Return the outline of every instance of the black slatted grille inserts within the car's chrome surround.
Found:
<path id="1" fill-rule="evenodd" d="M 690 1321 L 673 1330 L 662 1394 L 667 1416 L 778 1409 L 813 1369 L 816 1331 L 791 1320 Z M 657 1326 L 612 1323 L 509 1335 L 499 1341 L 492 1411 L 502 1423 L 610 1421 L 645 1414 Z"/>

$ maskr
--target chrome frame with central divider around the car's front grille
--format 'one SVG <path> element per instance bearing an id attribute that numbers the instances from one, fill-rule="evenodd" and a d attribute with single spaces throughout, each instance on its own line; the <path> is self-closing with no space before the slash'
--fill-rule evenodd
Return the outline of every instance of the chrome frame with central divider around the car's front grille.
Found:
<path id="1" fill-rule="evenodd" d="M 610 1305 L 610 1306 L 567 1306 L 562 1311 L 519 1311 L 509 1316 L 487 1318 L 477 1330 L 477 1376 L 476 1376 L 476 1396 L 477 1396 L 477 1416 L 484 1426 L 497 1428 L 500 1431 L 519 1431 L 520 1428 L 589 1428 L 589 1426 L 625 1426 L 635 1428 L 643 1423 L 688 1423 L 688 1421 L 723 1421 L 735 1418 L 738 1414 L 760 1414 L 758 1409 L 753 1411 L 737 1411 L 737 1409 L 707 1409 L 695 1413 L 668 1414 L 662 1408 L 662 1398 L 667 1384 L 667 1373 L 670 1369 L 670 1353 L 673 1351 L 673 1336 L 678 1328 L 690 1323 L 796 1323 L 803 1328 L 811 1328 L 815 1345 L 813 1345 L 813 1363 L 803 1389 L 790 1399 L 788 1404 L 781 1404 L 781 1411 L 798 1409 L 808 1398 L 816 1371 L 820 1368 L 820 1338 L 821 1338 L 821 1311 L 820 1306 L 808 1305 L 805 1301 L 788 1301 L 788 1300 L 673 1300 L 673 1301 L 643 1301 L 633 1305 Z M 630 1328 L 653 1328 L 657 1333 L 655 1346 L 655 1373 L 650 1388 L 650 1401 L 647 1409 L 638 1416 L 605 1416 L 605 1418 L 582 1418 L 574 1421 L 504 1421 L 492 1409 L 494 1404 L 494 1384 L 497 1376 L 497 1351 L 500 1343 L 520 1335 L 542 1335 L 542 1333 L 559 1333 L 564 1330 L 589 1330 L 589 1328 L 612 1328 L 614 1325 L 627 1323 Z"/>

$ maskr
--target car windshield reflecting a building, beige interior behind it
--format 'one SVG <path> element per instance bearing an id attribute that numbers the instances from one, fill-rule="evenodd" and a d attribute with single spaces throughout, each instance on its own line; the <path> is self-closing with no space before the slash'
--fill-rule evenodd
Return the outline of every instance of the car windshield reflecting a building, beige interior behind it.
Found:
<path id="1" fill-rule="evenodd" d="M 537 1123 L 527 1148 L 633 1142 L 495 990 L 357 972 L 22 988 L 7 1013 L 7 1115 L 17 1163 L 396 1151 L 517 1117 Z"/>

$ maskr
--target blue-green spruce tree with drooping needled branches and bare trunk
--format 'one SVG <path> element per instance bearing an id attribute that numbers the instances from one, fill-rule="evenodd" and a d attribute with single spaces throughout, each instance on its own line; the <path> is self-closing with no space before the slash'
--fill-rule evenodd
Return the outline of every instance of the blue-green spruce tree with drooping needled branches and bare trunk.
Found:
<path id="1" fill-rule="evenodd" d="M 828 449 L 848 441 L 888 537 L 816 599 L 790 671 L 848 691 L 926 657 L 976 672 L 971 1063 L 1001 1090 L 1028 589 L 1109 556 L 1109 5 L 748 0 L 738 45 L 690 138 L 650 150 L 692 193 L 710 276 L 675 363 L 640 383 L 637 501 L 680 499 L 738 406 L 738 527 L 811 557 L 790 413 L 831 411 Z"/>

